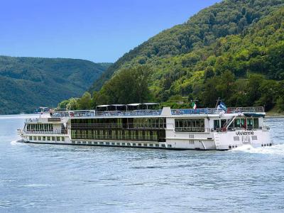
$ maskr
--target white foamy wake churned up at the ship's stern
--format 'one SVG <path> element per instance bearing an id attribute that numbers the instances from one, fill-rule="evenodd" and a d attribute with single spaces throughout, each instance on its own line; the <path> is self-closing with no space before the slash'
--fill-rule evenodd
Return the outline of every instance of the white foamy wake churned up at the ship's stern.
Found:
<path id="1" fill-rule="evenodd" d="M 260 154 L 268 154 L 268 155 L 284 155 L 284 143 L 277 144 L 273 146 L 266 147 L 258 147 L 253 148 L 251 145 L 239 146 L 238 148 L 234 148 L 231 151 L 243 151 L 246 153 L 260 153 Z"/>

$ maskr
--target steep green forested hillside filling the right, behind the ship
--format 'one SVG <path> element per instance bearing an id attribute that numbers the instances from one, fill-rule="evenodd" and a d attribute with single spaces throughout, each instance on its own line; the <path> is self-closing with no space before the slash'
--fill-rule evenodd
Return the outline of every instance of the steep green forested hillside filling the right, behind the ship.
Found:
<path id="1" fill-rule="evenodd" d="M 197 97 L 212 107 L 222 97 L 229 106 L 283 106 L 283 6 L 283 0 L 225 0 L 200 11 L 111 65 L 91 88 L 102 87 L 93 102 L 136 101 L 126 98 L 128 89 L 114 95 L 113 87 L 124 84 L 117 81 L 129 68 L 142 66 L 151 73 L 142 102 Z"/>

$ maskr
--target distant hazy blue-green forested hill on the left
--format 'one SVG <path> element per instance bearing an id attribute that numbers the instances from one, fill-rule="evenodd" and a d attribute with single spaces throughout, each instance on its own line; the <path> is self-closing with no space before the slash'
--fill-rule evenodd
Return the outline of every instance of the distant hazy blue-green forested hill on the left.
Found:
<path id="1" fill-rule="evenodd" d="M 87 60 L 0 56 L 0 114 L 33 112 L 80 96 L 108 66 Z"/>

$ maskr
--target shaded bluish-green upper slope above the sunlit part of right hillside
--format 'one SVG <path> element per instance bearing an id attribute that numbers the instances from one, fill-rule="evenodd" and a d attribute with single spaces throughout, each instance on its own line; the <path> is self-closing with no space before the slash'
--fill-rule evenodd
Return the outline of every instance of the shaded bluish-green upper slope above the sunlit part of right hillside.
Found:
<path id="1" fill-rule="evenodd" d="M 167 72 L 155 67 L 163 63 L 161 59 L 190 53 L 226 35 L 243 33 L 283 4 L 283 0 L 225 0 L 214 4 L 192 16 L 186 23 L 165 30 L 126 53 L 94 82 L 90 90 L 101 89 L 104 82 L 122 67 L 147 64 L 154 67 L 155 72 Z"/>

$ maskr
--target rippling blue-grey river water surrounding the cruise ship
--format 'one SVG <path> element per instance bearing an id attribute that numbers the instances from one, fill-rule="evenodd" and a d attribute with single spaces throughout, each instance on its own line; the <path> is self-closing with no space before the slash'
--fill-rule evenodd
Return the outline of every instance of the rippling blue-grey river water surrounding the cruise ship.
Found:
<path id="1" fill-rule="evenodd" d="M 284 212 L 284 119 L 204 152 L 16 143 L 25 117 L 0 116 L 0 212 Z"/>

